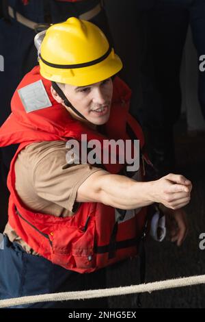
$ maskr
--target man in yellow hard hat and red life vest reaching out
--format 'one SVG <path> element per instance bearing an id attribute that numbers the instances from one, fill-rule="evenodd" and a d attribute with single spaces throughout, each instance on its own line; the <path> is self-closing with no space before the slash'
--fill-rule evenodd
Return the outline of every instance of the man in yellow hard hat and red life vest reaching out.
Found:
<path id="1" fill-rule="evenodd" d="M 141 181 L 149 165 L 143 134 L 128 114 L 131 91 L 114 77 L 122 62 L 100 29 L 74 17 L 49 27 L 39 63 L 20 82 L 0 130 L 1 146 L 20 143 L 8 175 L 1 299 L 99 287 L 105 267 L 138 254 L 152 203 L 178 224 L 173 241 L 180 245 L 187 232 L 180 208 L 189 203 L 191 182 L 175 174 Z M 139 138 L 139 169 L 127 168 L 131 158 L 120 162 L 120 146 L 108 153 L 115 162 L 106 162 L 108 138 L 129 140 L 132 156 Z M 98 149 L 83 161 L 70 140 Z"/>

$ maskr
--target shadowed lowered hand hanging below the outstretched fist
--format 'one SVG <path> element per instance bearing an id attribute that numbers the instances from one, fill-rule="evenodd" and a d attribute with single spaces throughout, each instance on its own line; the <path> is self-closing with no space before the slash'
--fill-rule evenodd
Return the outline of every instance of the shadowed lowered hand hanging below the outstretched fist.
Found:
<path id="1" fill-rule="evenodd" d="M 177 246 L 182 245 L 188 232 L 187 214 L 183 209 L 172 210 L 164 206 L 160 206 L 165 214 L 167 233 L 172 241 L 176 242 Z"/>

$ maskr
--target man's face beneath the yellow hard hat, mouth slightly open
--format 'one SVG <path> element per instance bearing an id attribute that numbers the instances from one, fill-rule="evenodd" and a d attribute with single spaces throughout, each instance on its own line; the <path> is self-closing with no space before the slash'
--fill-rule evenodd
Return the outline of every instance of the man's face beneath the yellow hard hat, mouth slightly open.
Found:
<path id="1" fill-rule="evenodd" d="M 89 86 L 79 87 L 66 84 L 63 91 L 72 106 L 83 114 L 87 121 L 94 125 L 102 125 L 108 121 L 113 95 L 111 78 Z M 79 116 L 70 108 L 67 109 L 72 116 L 79 119 Z"/>

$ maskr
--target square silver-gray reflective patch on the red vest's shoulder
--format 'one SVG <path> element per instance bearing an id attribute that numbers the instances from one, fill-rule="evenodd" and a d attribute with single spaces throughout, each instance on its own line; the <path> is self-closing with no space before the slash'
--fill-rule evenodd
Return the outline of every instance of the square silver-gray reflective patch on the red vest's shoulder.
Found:
<path id="1" fill-rule="evenodd" d="M 40 79 L 18 90 L 18 95 L 27 113 L 52 106 L 44 84 Z"/>

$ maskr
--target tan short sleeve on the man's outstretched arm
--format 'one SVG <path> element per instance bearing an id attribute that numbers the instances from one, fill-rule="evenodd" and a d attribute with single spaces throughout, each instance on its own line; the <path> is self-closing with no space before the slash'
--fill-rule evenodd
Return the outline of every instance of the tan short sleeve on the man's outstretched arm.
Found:
<path id="1" fill-rule="evenodd" d="M 39 197 L 72 211 L 79 186 L 99 170 L 91 164 L 68 164 L 66 149 L 53 149 L 33 169 L 33 186 Z"/>

